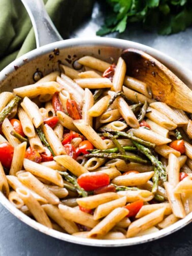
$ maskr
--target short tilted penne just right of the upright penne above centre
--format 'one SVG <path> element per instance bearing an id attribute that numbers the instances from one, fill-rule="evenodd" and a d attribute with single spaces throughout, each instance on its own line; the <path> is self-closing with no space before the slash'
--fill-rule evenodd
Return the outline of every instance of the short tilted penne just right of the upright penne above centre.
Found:
<path id="1" fill-rule="evenodd" d="M 92 117 L 100 116 L 107 109 L 109 100 L 109 95 L 104 96 L 89 109 L 88 114 Z"/>

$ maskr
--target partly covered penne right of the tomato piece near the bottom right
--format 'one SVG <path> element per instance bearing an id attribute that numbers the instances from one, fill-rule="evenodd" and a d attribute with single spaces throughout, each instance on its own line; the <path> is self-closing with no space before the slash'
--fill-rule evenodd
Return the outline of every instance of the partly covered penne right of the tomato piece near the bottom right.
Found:
<path id="1" fill-rule="evenodd" d="M 161 208 L 165 208 L 165 213 L 164 213 L 165 215 L 169 215 L 172 213 L 172 209 L 169 203 L 149 204 L 149 205 L 143 205 L 135 217 L 141 218 Z"/>

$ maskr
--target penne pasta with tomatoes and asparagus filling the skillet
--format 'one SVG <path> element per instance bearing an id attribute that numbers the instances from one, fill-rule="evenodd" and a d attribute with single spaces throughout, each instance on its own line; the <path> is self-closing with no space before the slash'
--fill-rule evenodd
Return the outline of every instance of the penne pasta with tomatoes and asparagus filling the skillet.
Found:
<path id="1" fill-rule="evenodd" d="M 192 211 L 191 115 L 90 56 L 0 94 L 0 190 L 48 228 L 129 239 Z M 12 114 L 17 111 L 14 118 Z M 183 135 L 184 134 L 184 135 Z"/>

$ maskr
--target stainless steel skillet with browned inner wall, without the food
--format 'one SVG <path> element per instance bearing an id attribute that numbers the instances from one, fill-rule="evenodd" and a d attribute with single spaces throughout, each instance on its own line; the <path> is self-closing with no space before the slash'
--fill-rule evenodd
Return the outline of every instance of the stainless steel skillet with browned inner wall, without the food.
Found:
<path id="1" fill-rule="evenodd" d="M 42 1 L 40 0 L 37 0 L 37 4 L 35 4 L 35 1 L 33 1 L 33 6 L 36 6 L 37 9 L 42 8 L 41 3 Z M 41 18 L 40 21 L 43 22 L 37 27 L 37 33 L 40 31 L 37 45 L 40 47 L 16 59 L 0 73 L 0 91 L 11 91 L 15 87 L 34 83 L 34 73 L 38 71 L 42 72 L 43 75 L 46 75 L 53 70 L 58 70 L 59 61 L 62 61 L 68 65 L 69 62 L 71 62 L 72 65 L 75 59 L 78 59 L 83 55 L 92 55 L 106 61 L 111 61 L 112 57 L 114 58 L 114 61 L 116 61 L 122 49 L 126 48 L 135 48 L 147 52 L 164 63 L 165 66 L 173 71 L 189 87 L 192 85 L 192 75 L 190 71 L 184 69 L 182 65 L 177 63 L 177 61 L 169 56 L 142 44 L 109 38 L 95 38 L 89 40 L 70 39 L 56 42 L 61 40 L 61 38 L 56 32 L 52 34 L 52 24 L 48 23 L 48 16 L 44 16 L 45 13 L 42 11 L 42 9 L 39 9 L 38 12 L 39 14 L 35 16 L 34 20 L 37 21 L 39 18 Z M 48 35 L 48 37 L 46 35 Z M 46 43 L 47 45 L 44 45 Z M 192 213 L 190 213 L 184 219 L 179 220 L 171 227 L 157 233 L 126 240 L 95 240 L 73 237 L 71 235 L 63 234 L 42 226 L 12 206 L 2 193 L 0 193 L 0 202 L 12 214 L 36 230 L 61 240 L 91 246 L 128 246 L 152 241 L 181 229 L 192 220 Z"/>

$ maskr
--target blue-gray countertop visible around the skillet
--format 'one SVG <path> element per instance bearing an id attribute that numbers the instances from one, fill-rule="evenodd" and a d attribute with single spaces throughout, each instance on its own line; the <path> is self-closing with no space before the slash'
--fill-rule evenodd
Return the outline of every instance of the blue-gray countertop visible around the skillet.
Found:
<path id="1" fill-rule="evenodd" d="M 98 4 L 94 5 L 89 21 L 72 34 L 74 37 L 95 37 L 103 22 L 102 11 Z M 124 34 L 112 34 L 108 37 L 121 38 L 146 44 L 158 49 L 182 65 L 192 70 L 192 28 L 171 36 L 159 36 L 154 33 L 144 33 L 138 27 L 132 26 Z M 0 255 L 1 256 L 31 256 L 31 255 L 120 255 L 129 254 L 142 256 L 189 256 L 192 255 L 192 223 L 176 233 L 146 244 L 121 248 L 96 248 L 75 245 L 44 235 L 28 227 L 2 205 L 0 205 Z"/>

